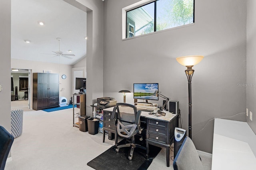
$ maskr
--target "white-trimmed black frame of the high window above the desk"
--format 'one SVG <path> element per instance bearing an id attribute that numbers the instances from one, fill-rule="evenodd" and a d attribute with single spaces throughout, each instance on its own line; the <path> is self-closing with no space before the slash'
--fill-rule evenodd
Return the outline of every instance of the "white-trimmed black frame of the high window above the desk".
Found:
<path id="1" fill-rule="evenodd" d="M 168 28 L 168 29 L 162 29 L 160 31 L 156 31 L 156 1 L 158 0 L 142 0 L 141 2 L 137 2 L 135 4 L 132 4 L 130 6 L 127 6 L 125 8 L 122 8 L 122 39 L 123 40 L 126 40 L 126 39 L 132 39 L 132 38 L 135 38 L 135 37 L 140 37 L 140 36 L 145 36 L 145 35 L 150 35 L 152 33 L 158 33 L 158 32 L 162 32 L 162 31 L 168 31 L 168 30 L 171 30 L 171 29 L 177 29 L 177 28 L 181 28 L 181 27 L 186 27 L 186 26 L 190 26 L 190 25 L 194 25 L 195 23 L 195 0 L 193 0 L 193 22 L 192 23 L 188 23 L 188 24 L 185 24 L 185 25 L 180 25 L 180 26 L 177 26 L 177 27 L 171 27 L 171 28 Z M 151 4 L 154 2 L 154 31 L 152 33 L 146 33 L 146 34 L 142 34 L 142 35 L 134 35 L 134 37 L 129 37 L 129 34 L 127 34 L 127 12 L 130 12 L 132 10 L 135 10 L 137 8 L 141 8 L 143 6 L 146 6 L 148 4 Z M 124 20 L 124 17 L 125 17 L 125 20 Z M 124 21 L 125 21 L 125 30 L 124 30 Z M 130 24 L 130 23 L 129 23 Z M 135 25 L 134 25 L 135 27 Z M 124 36 L 125 34 L 125 36 Z M 135 34 L 135 30 L 134 30 L 134 34 Z M 127 37 L 128 35 L 128 37 Z"/>

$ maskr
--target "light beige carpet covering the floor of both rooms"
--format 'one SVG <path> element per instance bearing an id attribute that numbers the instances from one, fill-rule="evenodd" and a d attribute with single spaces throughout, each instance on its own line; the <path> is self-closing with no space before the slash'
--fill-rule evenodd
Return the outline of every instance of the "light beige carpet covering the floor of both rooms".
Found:
<path id="1" fill-rule="evenodd" d="M 16 102 L 12 103 L 12 108 L 18 108 Z M 24 111 L 23 132 L 14 139 L 12 161 L 6 163 L 5 170 L 93 170 L 87 162 L 112 147 L 114 140 L 108 140 L 106 135 L 102 143 L 102 133 L 90 135 L 79 131 L 73 127 L 72 113 L 72 108 L 50 114 L 42 110 Z M 166 149 L 162 148 L 148 170 L 173 170 L 172 156 L 171 149 L 170 167 L 167 167 Z M 212 159 L 200 156 L 204 170 L 210 170 Z"/>

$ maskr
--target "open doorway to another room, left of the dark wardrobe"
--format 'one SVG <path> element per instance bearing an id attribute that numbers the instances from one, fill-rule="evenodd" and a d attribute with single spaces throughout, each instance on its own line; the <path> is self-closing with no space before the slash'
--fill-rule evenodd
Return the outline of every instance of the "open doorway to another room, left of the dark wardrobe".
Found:
<path id="1" fill-rule="evenodd" d="M 28 69 L 11 69 L 11 109 L 30 109 L 30 72 Z"/>

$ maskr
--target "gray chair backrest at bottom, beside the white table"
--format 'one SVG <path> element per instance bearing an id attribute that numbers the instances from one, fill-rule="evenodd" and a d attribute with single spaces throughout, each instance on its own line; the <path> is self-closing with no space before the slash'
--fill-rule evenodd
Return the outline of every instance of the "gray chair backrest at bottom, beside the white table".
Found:
<path id="1" fill-rule="evenodd" d="M 174 170 L 203 170 L 202 162 L 196 147 L 189 137 L 186 137 L 174 161 Z"/>

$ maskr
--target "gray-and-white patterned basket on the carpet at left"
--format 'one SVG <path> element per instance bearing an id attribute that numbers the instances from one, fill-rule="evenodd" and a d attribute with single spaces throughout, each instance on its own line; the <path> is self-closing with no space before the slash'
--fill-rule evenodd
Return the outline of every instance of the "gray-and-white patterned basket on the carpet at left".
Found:
<path id="1" fill-rule="evenodd" d="M 22 134 L 23 127 L 23 110 L 16 109 L 11 111 L 11 134 L 14 138 Z"/>

